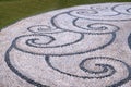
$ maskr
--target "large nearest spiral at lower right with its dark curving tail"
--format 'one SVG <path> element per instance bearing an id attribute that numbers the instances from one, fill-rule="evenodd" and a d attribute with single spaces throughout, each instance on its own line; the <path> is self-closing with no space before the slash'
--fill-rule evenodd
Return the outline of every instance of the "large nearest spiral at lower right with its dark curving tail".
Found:
<path id="1" fill-rule="evenodd" d="M 129 76 L 129 65 L 127 63 L 114 58 L 108 58 L 108 57 L 94 57 L 94 58 L 87 58 L 82 60 L 80 62 L 79 67 L 80 70 L 85 72 L 85 75 L 76 75 L 74 73 L 72 74 L 72 73 L 61 71 L 62 69 L 60 69 L 59 66 L 56 67 L 51 63 L 51 59 L 49 57 L 46 57 L 46 62 L 55 71 L 58 71 L 69 76 L 84 78 L 84 79 L 85 78 L 105 78 L 105 77 L 111 77 L 111 76 L 118 76 L 118 75 L 121 75 L 121 77 L 127 78 Z M 118 66 L 121 66 L 121 70 L 119 70 Z M 72 69 L 70 70 L 70 72 L 71 71 Z M 75 70 L 74 72 L 78 70 Z M 122 76 L 123 73 L 124 75 Z"/>

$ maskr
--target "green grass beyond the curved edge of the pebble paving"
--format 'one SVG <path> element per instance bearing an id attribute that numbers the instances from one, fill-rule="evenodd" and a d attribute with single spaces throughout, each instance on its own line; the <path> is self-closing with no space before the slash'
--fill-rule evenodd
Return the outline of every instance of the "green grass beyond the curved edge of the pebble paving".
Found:
<path id="1" fill-rule="evenodd" d="M 130 2 L 131 0 L 0 0 L 0 28 L 21 18 L 56 9 L 102 2 Z"/>

